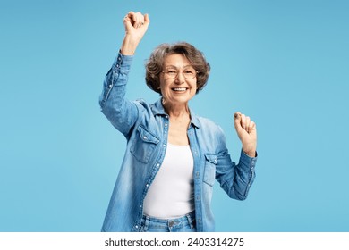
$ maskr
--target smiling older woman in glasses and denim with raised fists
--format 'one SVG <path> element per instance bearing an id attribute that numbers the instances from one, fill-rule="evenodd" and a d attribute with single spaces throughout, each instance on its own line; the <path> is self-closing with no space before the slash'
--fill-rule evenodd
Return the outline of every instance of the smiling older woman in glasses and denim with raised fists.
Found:
<path id="1" fill-rule="evenodd" d="M 146 82 L 155 104 L 125 99 L 132 57 L 149 27 L 148 14 L 129 12 L 125 37 L 106 74 L 100 106 L 127 140 L 102 231 L 214 231 L 215 179 L 231 198 L 246 198 L 257 160 L 256 125 L 240 112 L 234 127 L 243 148 L 232 162 L 225 136 L 188 103 L 209 78 L 209 63 L 188 43 L 163 44 L 150 55 Z"/>

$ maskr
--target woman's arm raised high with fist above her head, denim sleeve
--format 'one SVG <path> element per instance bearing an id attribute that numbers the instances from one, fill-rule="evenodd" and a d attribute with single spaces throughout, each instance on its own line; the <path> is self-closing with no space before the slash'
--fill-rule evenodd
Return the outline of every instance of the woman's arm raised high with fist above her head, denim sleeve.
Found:
<path id="1" fill-rule="evenodd" d="M 129 12 L 123 19 L 125 37 L 120 53 L 112 68 L 107 72 L 103 91 L 99 98 L 101 111 L 125 137 L 138 118 L 135 104 L 125 99 L 126 83 L 131 68 L 133 54 L 149 26 L 148 14 Z"/>

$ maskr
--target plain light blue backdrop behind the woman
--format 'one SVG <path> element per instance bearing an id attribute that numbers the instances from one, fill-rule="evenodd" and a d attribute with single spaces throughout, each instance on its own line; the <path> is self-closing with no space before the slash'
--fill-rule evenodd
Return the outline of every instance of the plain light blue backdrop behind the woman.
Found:
<path id="1" fill-rule="evenodd" d="M 127 96 L 155 102 L 144 63 L 187 41 L 212 71 L 192 109 L 226 132 L 257 122 L 257 178 L 244 202 L 215 186 L 218 231 L 349 231 L 348 1 L 0 1 L 0 231 L 99 231 L 125 139 L 98 96 L 123 16 L 149 32 Z"/>

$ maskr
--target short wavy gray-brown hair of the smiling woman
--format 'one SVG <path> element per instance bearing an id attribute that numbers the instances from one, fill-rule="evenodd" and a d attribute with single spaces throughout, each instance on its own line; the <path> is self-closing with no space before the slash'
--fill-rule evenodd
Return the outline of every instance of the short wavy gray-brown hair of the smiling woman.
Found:
<path id="1" fill-rule="evenodd" d="M 210 66 L 206 61 L 204 54 L 197 48 L 186 42 L 175 44 L 161 44 L 157 46 L 150 54 L 146 63 L 146 83 L 155 92 L 161 95 L 160 90 L 160 73 L 163 71 L 166 56 L 170 54 L 183 54 L 191 63 L 195 71 L 198 71 L 196 94 L 206 85 L 209 79 Z"/>

